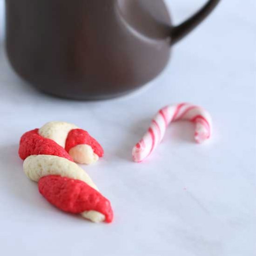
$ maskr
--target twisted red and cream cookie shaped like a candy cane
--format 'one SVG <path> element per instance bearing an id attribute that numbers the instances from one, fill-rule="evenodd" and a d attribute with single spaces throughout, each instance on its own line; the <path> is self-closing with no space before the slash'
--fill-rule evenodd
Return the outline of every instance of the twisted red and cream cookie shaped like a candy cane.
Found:
<path id="1" fill-rule="evenodd" d="M 40 193 L 57 208 L 80 213 L 93 222 L 111 222 L 113 211 L 108 199 L 75 162 L 89 164 L 103 153 L 88 132 L 65 122 L 47 123 L 20 138 L 24 172 L 38 182 Z"/>

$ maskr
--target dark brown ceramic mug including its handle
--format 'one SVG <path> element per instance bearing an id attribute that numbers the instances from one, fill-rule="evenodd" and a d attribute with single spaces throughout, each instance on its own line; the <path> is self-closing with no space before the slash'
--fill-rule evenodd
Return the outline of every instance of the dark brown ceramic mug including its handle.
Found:
<path id="1" fill-rule="evenodd" d="M 6 0 L 7 55 L 48 94 L 105 99 L 161 73 L 170 48 L 220 0 L 172 26 L 163 0 Z"/>

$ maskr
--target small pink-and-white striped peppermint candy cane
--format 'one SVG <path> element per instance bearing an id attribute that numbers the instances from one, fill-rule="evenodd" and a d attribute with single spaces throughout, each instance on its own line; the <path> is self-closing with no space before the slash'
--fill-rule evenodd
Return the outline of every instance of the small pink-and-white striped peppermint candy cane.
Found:
<path id="1" fill-rule="evenodd" d="M 209 139 L 212 125 L 211 117 L 206 110 L 189 103 L 166 106 L 160 109 L 153 119 L 148 132 L 133 148 L 133 160 L 135 162 L 142 162 L 145 160 L 162 141 L 167 126 L 172 121 L 177 120 L 189 120 L 195 122 L 196 142 L 202 143 Z"/>

